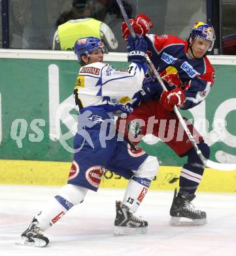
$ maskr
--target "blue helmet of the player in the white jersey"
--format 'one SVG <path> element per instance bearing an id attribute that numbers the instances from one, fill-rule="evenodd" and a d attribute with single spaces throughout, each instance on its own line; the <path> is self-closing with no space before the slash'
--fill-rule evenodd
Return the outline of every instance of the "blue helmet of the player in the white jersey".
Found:
<path id="1" fill-rule="evenodd" d="M 93 51 L 101 50 L 105 53 L 104 43 L 97 37 L 82 37 L 75 42 L 75 54 L 78 57 L 78 62 L 81 62 L 81 56 L 84 54 L 87 57 Z"/>

